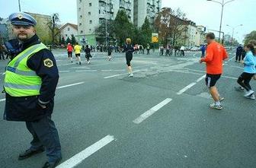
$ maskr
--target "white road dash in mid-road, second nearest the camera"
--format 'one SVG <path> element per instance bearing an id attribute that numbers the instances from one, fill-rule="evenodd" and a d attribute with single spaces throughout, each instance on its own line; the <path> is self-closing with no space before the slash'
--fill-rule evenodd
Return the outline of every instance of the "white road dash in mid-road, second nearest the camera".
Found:
<path id="1" fill-rule="evenodd" d="M 140 124 L 145 119 L 149 118 L 149 116 L 152 116 L 155 112 L 157 112 L 159 109 L 161 109 L 166 104 L 170 103 L 172 99 L 167 98 L 163 100 L 161 103 L 158 103 L 158 105 L 153 106 L 151 109 L 140 115 L 137 119 L 134 119 L 133 122 L 136 124 Z"/>

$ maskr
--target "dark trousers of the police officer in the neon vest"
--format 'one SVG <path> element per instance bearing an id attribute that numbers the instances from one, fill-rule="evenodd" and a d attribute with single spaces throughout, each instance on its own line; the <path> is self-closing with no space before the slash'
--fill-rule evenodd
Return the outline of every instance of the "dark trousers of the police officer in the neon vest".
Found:
<path id="1" fill-rule="evenodd" d="M 50 115 L 34 122 L 26 122 L 26 126 L 33 136 L 30 142 L 32 151 L 46 147 L 46 155 L 50 163 L 62 157 L 58 131 Z"/>

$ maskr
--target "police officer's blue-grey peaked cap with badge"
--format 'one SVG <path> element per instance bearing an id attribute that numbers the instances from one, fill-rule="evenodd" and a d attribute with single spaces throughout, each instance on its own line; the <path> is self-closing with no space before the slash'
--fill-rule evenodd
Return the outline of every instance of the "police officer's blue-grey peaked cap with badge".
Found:
<path id="1" fill-rule="evenodd" d="M 36 26 L 37 21 L 34 19 L 34 17 L 30 16 L 30 14 L 26 14 L 23 12 L 18 12 L 11 14 L 9 16 L 9 21 L 11 21 L 12 25 L 17 26 Z"/>

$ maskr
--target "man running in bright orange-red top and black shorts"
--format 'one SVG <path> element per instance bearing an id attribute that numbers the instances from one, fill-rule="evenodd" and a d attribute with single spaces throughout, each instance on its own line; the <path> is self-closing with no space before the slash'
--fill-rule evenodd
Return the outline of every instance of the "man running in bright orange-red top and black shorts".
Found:
<path id="1" fill-rule="evenodd" d="M 206 62 L 206 85 L 209 87 L 210 94 L 215 103 L 210 104 L 212 109 L 222 109 L 220 101 L 224 100 L 219 97 L 219 92 L 216 87 L 216 82 L 222 75 L 222 62 L 228 58 L 226 49 L 219 43 L 216 43 L 214 33 L 206 34 L 206 42 L 208 43 L 206 49 L 206 58 L 200 59 L 200 63 Z"/>

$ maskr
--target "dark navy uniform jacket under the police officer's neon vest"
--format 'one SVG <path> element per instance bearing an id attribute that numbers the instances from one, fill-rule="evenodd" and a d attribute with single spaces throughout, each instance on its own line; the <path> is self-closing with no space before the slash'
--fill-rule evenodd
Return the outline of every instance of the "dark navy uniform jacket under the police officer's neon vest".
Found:
<path id="1" fill-rule="evenodd" d="M 37 35 L 20 45 L 18 40 L 10 40 L 15 55 L 34 44 L 40 43 Z M 47 64 L 44 62 L 48 60 Z M 49 62 L 49 59 L 51 60 Z M 59 71 L 56 60 L 49 49 L 42 49 L 27 60 L 27 66 L 42 79 L 40 95 L 35 97 L 11 97 L 6 93 L 4 119 L 8 121 L 36 121 L 53 113 L 56 85 L 59 81 Z M 39 102 L 40 101 L 40 102 Z M 39 104 L 43 103 L 46 109 Z"/>

